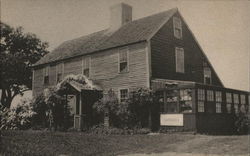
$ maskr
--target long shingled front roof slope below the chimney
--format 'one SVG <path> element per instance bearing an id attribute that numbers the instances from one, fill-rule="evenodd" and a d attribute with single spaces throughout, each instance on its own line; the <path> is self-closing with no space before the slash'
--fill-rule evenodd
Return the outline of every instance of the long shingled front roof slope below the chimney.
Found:
<path id="1" fill-rule="evenodd" d="M 66 41 L 40 59 L 34 66 L 90 54 L 122 45 L 149 40 L 177 8 L 131 21 L 114 32 L 105 29 L 77 39 Z"/>

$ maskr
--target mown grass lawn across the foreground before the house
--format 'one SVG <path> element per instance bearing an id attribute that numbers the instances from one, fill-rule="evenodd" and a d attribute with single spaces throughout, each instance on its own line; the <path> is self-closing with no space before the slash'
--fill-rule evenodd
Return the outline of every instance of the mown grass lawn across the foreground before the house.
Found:
<path id="1" fill-rule="evenodd" d="M 164 152 L 247 155 L 249 136 L 192 134 L 93 135 L 82 132 L 2 131 L 0 155 L 123 155 Z"/>

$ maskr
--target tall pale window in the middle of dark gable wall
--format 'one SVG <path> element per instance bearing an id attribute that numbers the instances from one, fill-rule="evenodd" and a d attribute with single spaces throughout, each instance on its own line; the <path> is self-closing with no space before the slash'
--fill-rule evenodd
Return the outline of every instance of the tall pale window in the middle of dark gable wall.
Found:
<path id="1" fill-rule="evenodd" d="M 184 49 L 183 48 L 175 48 L 175 61 L 176 61 L 176 72 L 184 73 Z"/>

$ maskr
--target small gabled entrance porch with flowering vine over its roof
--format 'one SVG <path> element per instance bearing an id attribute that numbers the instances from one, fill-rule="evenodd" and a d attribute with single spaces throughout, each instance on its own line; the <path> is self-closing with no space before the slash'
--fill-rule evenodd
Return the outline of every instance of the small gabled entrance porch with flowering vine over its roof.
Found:
<path id="1" fill-rule="evenodd" d="M 102 97 L 102 89 L 84 75 L 78 75 L 78 79 L 66 78 L 58 85 L 70 108 L 71 125 L 77 130 L 84 130 L 96 124 L 92 106 Z"/>

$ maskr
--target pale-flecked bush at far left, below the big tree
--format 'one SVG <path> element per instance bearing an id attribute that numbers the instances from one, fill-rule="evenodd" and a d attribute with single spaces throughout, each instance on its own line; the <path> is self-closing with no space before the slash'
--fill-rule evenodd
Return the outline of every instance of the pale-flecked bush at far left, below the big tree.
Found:
<path id="1" fill-rule="evenodd" d="M 31 127 L 31 119 L 35 115 L 31 100 L 24 99 L 14 108 L 2 108 L 0 130 L 28 129 Z"/>

